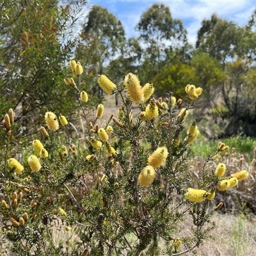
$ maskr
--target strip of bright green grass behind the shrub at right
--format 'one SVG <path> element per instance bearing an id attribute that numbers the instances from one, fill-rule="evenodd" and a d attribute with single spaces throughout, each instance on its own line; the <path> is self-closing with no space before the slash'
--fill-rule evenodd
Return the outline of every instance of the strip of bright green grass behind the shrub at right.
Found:
<path id="1" fill-rule="evenodd" d="M 253 158 L 253 149 L 256 148 L 256 138 L 246 136 L 235 136 L 221 140 L 207 140 L 203 137 L 199 137 L 191 147 L 196 156 L 205 158 L 215 152 L 219 141 L 229 146 L 228 154 L 232 154 L 232 148 L 236 148 L 237 153 L 245 154 L 250 159 Z"/>

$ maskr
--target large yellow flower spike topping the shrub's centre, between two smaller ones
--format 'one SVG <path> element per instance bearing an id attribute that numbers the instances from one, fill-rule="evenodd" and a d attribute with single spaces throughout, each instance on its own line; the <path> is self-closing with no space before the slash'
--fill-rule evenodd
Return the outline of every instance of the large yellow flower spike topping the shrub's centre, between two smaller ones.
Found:
<path id="1" fill-rule="evenodd" d="M 143 90 L 136 75 L 129 73 L 124 78 L 124 84 L 132 102 L 138 104 L 143 101 Z"/>

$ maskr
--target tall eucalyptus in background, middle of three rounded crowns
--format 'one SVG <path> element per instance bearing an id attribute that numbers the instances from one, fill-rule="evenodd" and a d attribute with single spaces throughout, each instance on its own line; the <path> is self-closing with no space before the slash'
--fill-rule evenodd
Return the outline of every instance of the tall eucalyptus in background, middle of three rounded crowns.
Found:
<path id="1" fill-rule="evenodd" d="M 147 81 L 160 72 L 173 51 L 188 45 L 182 21 L 173 19 L 170 9 L 164 4 L 153 4 L 148 8 L 141 15 L 136 29 L 144 52 L 141 76 Z"/>

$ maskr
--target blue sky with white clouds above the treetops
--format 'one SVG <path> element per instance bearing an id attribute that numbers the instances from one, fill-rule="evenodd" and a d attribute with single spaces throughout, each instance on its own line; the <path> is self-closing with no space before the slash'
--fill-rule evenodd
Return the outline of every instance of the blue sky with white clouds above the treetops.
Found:
<path id="1" fill-rule="evenodd" d="M 136 36 L 135 26 L 141 14 L 154 3 L 163 3 L 169 6 L 174 19 L 181 19 L 188 31 L 188 40 L 196 42 L 196 33 L 204 19 L 210 19 L 213 13 L 218 17 L 233 20 L 244 25 L 256 8 L 256 1 L 115 1 L 89 0 L 90 4 L 99 4 L 108 8 L 121 20 L 127 37 Z"/>

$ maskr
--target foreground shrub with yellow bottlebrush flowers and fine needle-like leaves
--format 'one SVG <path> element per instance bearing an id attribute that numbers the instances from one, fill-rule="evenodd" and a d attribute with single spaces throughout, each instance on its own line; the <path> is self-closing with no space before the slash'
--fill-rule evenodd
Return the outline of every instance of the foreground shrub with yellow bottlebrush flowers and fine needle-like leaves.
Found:
<path id="1" fill-rule="evenodd" d="M 134 74 L 118 85 L 99 77 L 102 90 L 122 98 L 118 113 L 107 118 L 104 106 L 94 109 L 82 93 L 81 65 L 72 61 L 71 67 L 83 138 L 68 136 L 68 113 L 56 116 L 57 109 L 51 109 L 44 113 L 46 125 L 38 127 L 41 137 L 26 154 L 13 152 L 17 127 L 12 109 L 4 116 L 0 170 L 5 246 L 15 255 L 194 252 L 211 237 L 211 216 L 221 207 L 211 203 L 216 188 L 226 190 L 248 176 L 246 170 L 228 176 L 224 169 L 207 172 L 207 164 L 228 149 L 222 142 L 212 148 L 196 177 L 189 170 L 188 161 L 194 157 L 190 145 L 199 129 L 193 122 L 184 131 L 190 108 L 186 101 L 198 98 L 202 90 L 188 84 L 184 100 L 172 93 L 154 99 L 154 88 L 141 88 Z M 144 93 L 151 95 L 148 100 Z M 185 219 L 191 232 L 180 236 L 179 223 Z M 56 228 L 67 232 L 62 243 L 54 243 Z"/>

